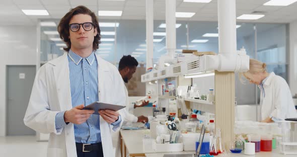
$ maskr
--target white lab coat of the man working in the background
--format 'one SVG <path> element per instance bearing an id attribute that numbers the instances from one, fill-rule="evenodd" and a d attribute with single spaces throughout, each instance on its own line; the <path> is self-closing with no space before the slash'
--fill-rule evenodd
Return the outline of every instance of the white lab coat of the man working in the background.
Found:
<path id="1" fill-rule="evenodd" d="M 123 113 L 125 114 L 125 120 L 124 120 L 124 124 L 126 122 L 137 122 L 138 118 L 136 116 L 134 116 L 133 114 L 129 113 L 129 110 L 131 109 L 131 105 L 129 104 L 129 97 L 128 97 L 128 90 L 125 87 L 125 94 L 126 94 L 126 107 L 125 110 L 123 110 Z M 134 106 L 134 105 L 133 105 Z M 115 150 L 115 156 L 116 157 L 120 157 L 121 156 L 121 143 L 120 143 L 120 131 L 117 130 L 115 132 L 112 133 L 112 144 L 113 144 L 113 149 Z M 124 155 L 125 156 L 125 155 Z"/>

